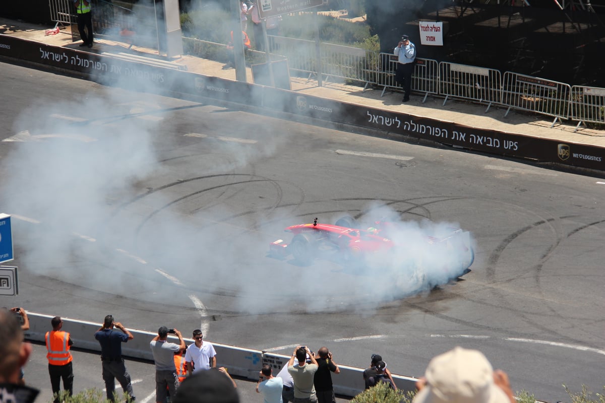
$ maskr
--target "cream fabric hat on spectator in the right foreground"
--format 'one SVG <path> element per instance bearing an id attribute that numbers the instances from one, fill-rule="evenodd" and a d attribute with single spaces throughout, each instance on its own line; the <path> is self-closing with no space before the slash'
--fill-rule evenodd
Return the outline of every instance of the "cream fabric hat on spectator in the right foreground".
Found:
<path id="1" fill-rule="evenodd" d="M 494 383 L 494 370 L 482 352 L 456 347 L 437 355 L 425 372 L 427 385 L 412 403 L 510 403 Z"/>

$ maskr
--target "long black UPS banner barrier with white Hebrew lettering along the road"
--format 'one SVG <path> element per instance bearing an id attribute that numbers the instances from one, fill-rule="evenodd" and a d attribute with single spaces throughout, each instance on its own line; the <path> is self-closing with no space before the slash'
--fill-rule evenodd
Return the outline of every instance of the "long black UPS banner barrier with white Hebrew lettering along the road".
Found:
<path id="1" fill-rule="evenodd" d="M 492 155 L 605 170 L 605 148 L 511 134 L 396 111 L 301 95 L 272 87 L 188 73 L 115 57 L 42 45 L 0 34 L 0 56 L 85 73 L 101 83 L 186 98 L 214 98 L 272 111 L 366 127 L 402 138 L 430 140 Z M 387 137 L 385 136 L 385 137 Z"/>

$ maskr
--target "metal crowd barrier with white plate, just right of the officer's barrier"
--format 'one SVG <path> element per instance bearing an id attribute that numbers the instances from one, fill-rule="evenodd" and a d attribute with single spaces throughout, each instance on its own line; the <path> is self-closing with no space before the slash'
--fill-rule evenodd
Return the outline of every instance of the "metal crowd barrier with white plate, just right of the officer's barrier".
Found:
<path id="1" fill-rule="evenodd" d="M 485 67 L 456 63 L 439 63 L 439 94 L 462 98 L 479 103 L 487 102 L 487 112 L 492 103 L 500 103 L 500 71 Z"/>

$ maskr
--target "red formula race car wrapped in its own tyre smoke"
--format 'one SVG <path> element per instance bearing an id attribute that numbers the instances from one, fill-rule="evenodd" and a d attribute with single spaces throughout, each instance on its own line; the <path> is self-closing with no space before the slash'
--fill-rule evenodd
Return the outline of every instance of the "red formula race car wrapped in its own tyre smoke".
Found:
<path id="1" fill-rule="evenodd" d="M 413 227 L 413 225 L 412 225 Z M 410 223 L 376 221 L 373 227 L 361 229 L 352 217 L 343 217 L 332 224 L 299 224 L 287 227 L 292 241 L 278 239 L 269 244 L 274 257 L 292 255 L 296 262 L 308 265 L 316 257 L 338 259 L 343 263 L 374 263 L 375 265 L 410 268 L 438 282 L 456 279 L 470 271 L 474 261 L 471 236 L 457 228 L 440 229 L 438 234 L 425 235 Z M 431 273 L 439 272 L 439 276 Z M 431 281 L 431 283 L 433 283 Z"/>

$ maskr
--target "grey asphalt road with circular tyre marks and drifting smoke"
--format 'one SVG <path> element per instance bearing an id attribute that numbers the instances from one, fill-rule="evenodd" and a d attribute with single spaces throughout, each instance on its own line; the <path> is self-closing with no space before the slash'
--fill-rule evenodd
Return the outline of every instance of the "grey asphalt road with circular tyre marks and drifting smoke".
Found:
<path id="1" fill-rule="evenodd" d="M 19 267 L 2 305 L 288 355 L 325 345 L 356 367 L 381 353 L 411 376 L 460 345 L 538 399 L 601 392 L 603 178 L 7 64 L 0 76 L 0 205 Z M 267 256 L 285 227 L 344 215 L 414 223 L 410 239 L 470 231 L 472 271 L 409 295 L 378 257 L 360 270 Z"/>

